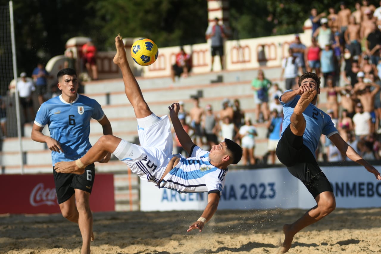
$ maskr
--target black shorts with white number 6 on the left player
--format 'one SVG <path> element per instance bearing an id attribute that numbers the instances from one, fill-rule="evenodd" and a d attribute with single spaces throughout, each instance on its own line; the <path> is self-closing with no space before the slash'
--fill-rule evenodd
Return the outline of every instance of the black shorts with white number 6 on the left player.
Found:
<path id="1" fill-rule="evenodd" d="M 58 204 L 64 203 L 75 193 L 74 189 L 91 193 L 95 178 L 94 163 L 85 167 L 82 175 L 57 173 L 53 167 Z"/>

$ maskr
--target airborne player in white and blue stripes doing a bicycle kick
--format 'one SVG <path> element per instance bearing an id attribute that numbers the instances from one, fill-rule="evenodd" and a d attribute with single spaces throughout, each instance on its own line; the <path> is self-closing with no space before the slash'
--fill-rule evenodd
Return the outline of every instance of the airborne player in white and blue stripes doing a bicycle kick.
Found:
<path id="1" fill-rule="evenodd" d="M 178 119 L 179 103 L 169 106 L 170 117 L 176 135 L 189 158 L 172 155 L 173 138 L 167 116 L 157 117 L 144 100 L 138 82 L 126 58 L 122 37 L 115 38 L 117 53 L 114 63 L 122 71 L 125 93 L 132 104 L 138 121 L 140 146 L 113 135 L 104 135 L 94 146 L 75 162 L 58 162 L 56 172 L 83 174 L 83 168 L 98 161 L 105 153 L 113 153 L 125 162 L 142 180 L 179 192 L 208 192 L 208 204 L 201 217 L 187 231 L 200 231 L 217 210 L 225 183 L 227 166 L 237 164 L 242 148 L 232 140 L 215 145 L 210 151 L 196 146 Z"/>

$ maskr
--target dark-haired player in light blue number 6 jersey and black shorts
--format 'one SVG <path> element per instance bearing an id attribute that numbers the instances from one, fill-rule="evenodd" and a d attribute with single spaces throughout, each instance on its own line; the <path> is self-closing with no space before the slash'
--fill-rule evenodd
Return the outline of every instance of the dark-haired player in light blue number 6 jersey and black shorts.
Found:
<path id="1" fill-rule="evenodd" d="M 78 79 L 74 69 L 62 69 L 57 74 L 60 96 L 45 101 L 38 109 L 31 138 L 46 143 L 52 151 L 53 166 L 59 161 L 75 161 L 90 148 L 90 120 L 102 125 L 103 134 L 112 134 L 110 121 L 96 100 L 79 95 Z M 50 136 L 42 133 L 48 125 Z M 111 154 L 104 154 L 107 162 Z M 99 160 L 101 160 L 99 159 Z M 85 168 L 86 174 L 61 174 L 53 170 L 57 201 L 62 215 L 78 223 L 82 235 L 82 254 L 90 253 L 93 240 L 93 215 L 90 210 L 90 193 L 95 178 L 94 164 Z"/>

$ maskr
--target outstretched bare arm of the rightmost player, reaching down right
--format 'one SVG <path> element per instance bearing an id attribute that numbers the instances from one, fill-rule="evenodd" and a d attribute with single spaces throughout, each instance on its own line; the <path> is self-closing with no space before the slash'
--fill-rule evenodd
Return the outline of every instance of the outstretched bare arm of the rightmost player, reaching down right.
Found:
<path id="1" fill-rule="evenodd" d="M 347 142 L 344 141 L 338 133 L 333 134 L 331 137 L 329 137 L 329 139 L 338 148 L 341 154 L 347 156 L 352 161 L 364 166 L 365 169 L 367 169 L 370 173 L 375 175 L 377 180 L 381 180 L 381 176 L 378 170 L 375 169 L 375 167 L 373 167 L 372 165 L 370 165 L 367 161 L 365 161 L 360 156 L 360 154 L 356 153 L 352 146 L 348 145 Z"/>

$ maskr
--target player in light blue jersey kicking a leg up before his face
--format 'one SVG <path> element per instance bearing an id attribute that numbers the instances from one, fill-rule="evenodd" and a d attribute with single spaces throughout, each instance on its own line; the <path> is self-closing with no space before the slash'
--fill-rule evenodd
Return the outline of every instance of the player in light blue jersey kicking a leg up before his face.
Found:
<path id="1" fill-rule="evenodd" d="M 341 154 L 364 166 L 377 180 L 381 180 L 379 171 L 338 134 L 331 117 L 315 106 L 318 94 L 320 77 L 306 72 L 299 79 L 298 89 L 288 90 L 279 98 L 283 104 L 284 119 L 276 154 L 290 174 L 306 186 L 315 199 L 316 206 L 295 222 L 283 225 L 285 238 L 278 253 L 285 253 L 291 248 L 296 233 L 335 210 L 336 201 L 331 183 L 316 160 L 315 151 L 322 134 L 330 139 Z"/>

